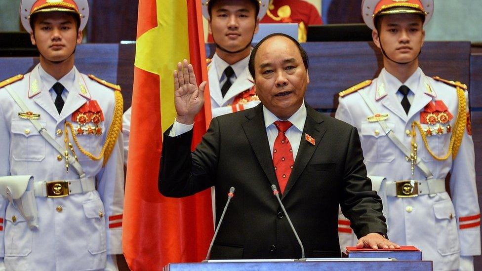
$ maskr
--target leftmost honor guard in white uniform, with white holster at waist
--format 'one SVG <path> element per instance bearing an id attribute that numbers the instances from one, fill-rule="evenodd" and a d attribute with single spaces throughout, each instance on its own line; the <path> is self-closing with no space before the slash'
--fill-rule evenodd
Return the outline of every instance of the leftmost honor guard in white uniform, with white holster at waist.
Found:
<path id="1" fill-rule="evenodd" d="M 6 270 L 117 270 L 122 95 L 74 66 L 87 0 L 22 0 L 40 64 L 0 83 L 0 258 Z"/>

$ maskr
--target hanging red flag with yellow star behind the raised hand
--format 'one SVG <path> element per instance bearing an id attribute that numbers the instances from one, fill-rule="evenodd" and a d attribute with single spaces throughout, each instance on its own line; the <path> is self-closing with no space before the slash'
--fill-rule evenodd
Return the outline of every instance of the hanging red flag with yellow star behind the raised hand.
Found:
<path id="1" fill-rule="evenodd" d="M 131 270 L 204 259 L 213 234 L 210 190 L 186 198 L 158 191 L 162 132 L 174 121 L 177 62 L 207 80 L 199 0 L 139 0 L 122 247 Z M 206 88 L 207 90 L 207 88 Z M 211 119 L 209 91 L 196 116 L 194 148 Z"/>

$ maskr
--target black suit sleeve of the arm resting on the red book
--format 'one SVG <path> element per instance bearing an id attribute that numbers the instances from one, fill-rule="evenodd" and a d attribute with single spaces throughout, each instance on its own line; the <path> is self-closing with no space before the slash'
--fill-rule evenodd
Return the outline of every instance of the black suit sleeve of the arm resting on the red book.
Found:
<path id="1" fill-rule="evenodd" d="M 387 234 L 386 219 L 382 214 L 382 200 L 371 190 L 363 164 L 360 138 L 352 127 L 346 153 L 345 175 L 340 186 L 341 210 L 350 220 L 351 228 L 358 238 L 370 232 Z"/>

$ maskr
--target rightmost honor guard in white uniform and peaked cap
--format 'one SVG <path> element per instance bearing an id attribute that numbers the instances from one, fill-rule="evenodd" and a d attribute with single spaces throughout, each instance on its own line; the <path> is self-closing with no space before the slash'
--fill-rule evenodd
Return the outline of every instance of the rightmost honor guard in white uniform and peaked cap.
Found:
<path id="1" fill-rule="evenodd" d="M 433 10 L 433 0 L 363 1 L 384 68 L 340 92 L 335 116 L 358 128 L 390 240 L 419 248 L 434 270 L 473 270 L 481 237 L 467 86 L 418 67 Z M 344 250 L 356 237 L 339 219 Z"/>

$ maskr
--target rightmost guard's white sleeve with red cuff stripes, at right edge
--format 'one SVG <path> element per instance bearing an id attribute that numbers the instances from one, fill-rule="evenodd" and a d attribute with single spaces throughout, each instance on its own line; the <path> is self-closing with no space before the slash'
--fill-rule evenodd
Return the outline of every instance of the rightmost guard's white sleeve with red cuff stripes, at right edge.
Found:
<path id="1" fill-rule="evenodd" d="M 468 101 L 467 92 L 466 100 Z M 467 121 L 469 123 L 469 118 Z M 467 128 L 464 129 L 450 177 L 450 192 L 457 217 L 462 256 L 481 255 L 481 215 L 476 187 L 474 142 L 467 131 Z"/>

